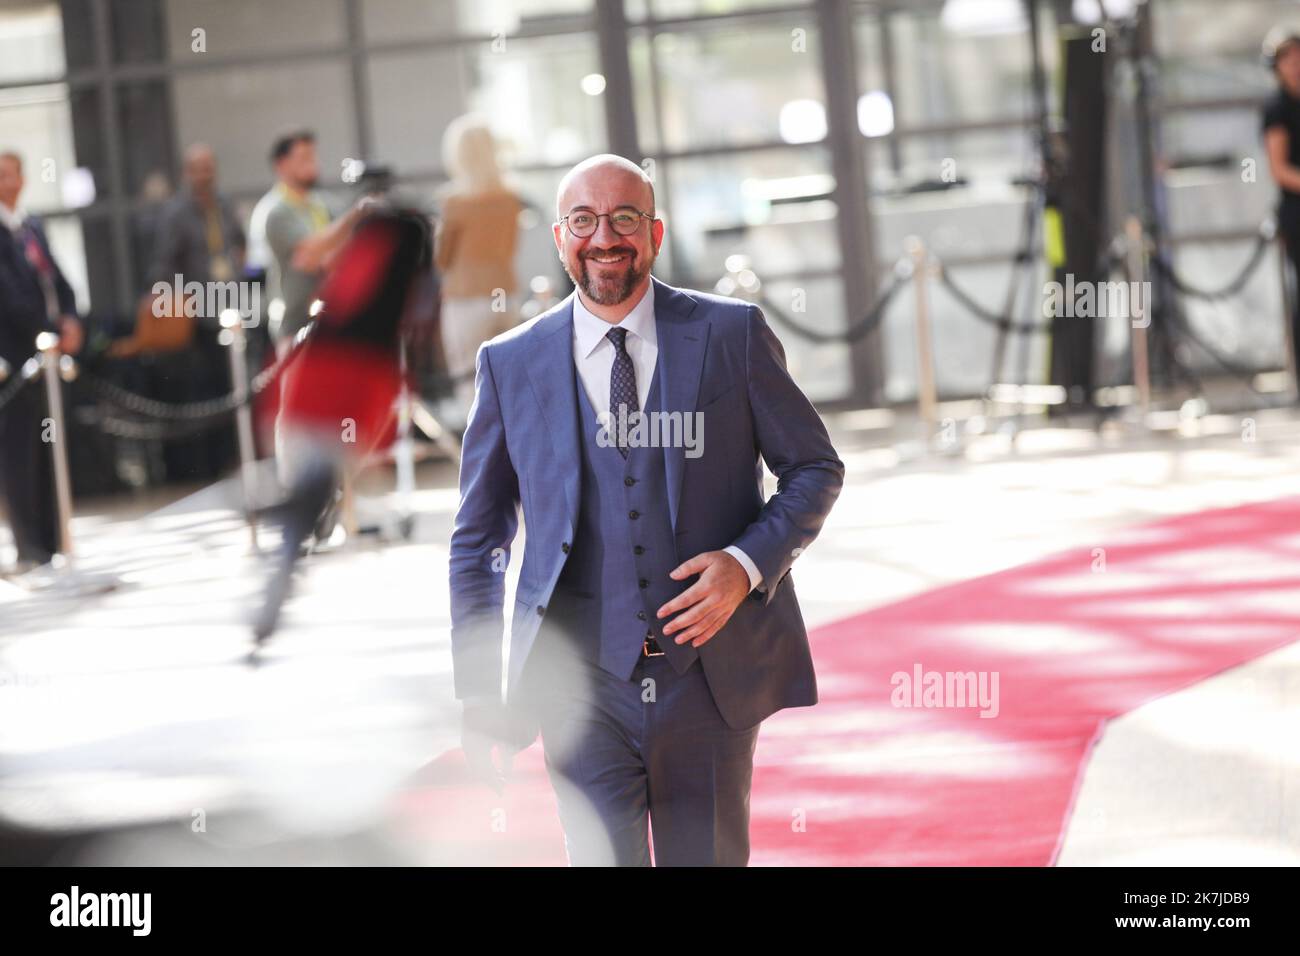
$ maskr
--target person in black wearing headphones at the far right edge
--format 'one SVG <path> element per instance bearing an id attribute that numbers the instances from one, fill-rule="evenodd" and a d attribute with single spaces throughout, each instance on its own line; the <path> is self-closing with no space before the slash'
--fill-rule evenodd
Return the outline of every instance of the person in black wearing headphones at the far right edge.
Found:
<path id="1" fill-rule="evenodd" d="M 1278 200 L 1278 233 L 1287 258 L 1300 277 L 1300 27 L 1282 26 L 1264 42 L 1265 61 L 1273 68 L 1278 88 L 1264 104 L 1264 144 L 1269 172 L 1282 195 Z M 1300 284 L 1292 303 L 1291 347 L 1300 369 Z"/>

